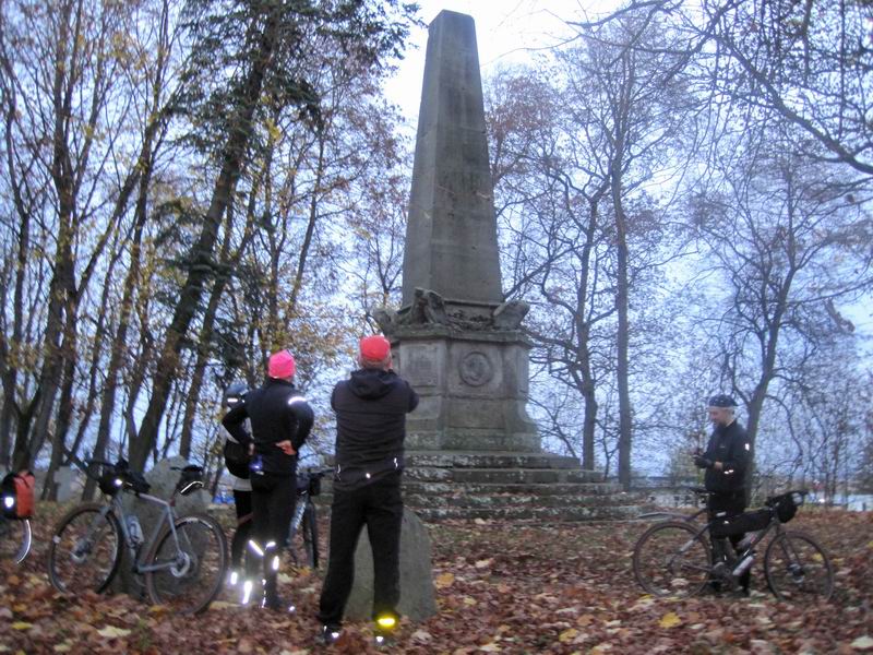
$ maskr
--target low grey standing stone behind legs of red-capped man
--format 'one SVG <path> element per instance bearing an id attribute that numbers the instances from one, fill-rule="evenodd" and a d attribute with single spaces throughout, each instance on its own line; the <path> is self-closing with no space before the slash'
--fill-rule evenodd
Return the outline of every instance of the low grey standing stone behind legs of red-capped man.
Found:
<path id="1" fill-rule="evenodd" d="M 412 621 L 423 621 L 436 614 L 430 536 L 421 520 L 408 508 L 404 509 L 400 529 L 400 602 L 397 610 Z M 346 618 L 369 621 L 372 611 L 373 558 L 364 528 L 355 551 L 355 585 L 346 605 Z"/>

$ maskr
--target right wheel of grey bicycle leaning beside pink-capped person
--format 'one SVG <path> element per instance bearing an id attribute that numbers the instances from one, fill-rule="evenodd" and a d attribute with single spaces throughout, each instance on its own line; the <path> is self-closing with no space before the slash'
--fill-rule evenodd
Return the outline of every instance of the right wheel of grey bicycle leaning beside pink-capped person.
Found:
<path id="1" fill-rule="evenodd" d="M 210 606 L 227 572 L 227 539 L 210 516 L 177 519 L 176 536 L 165 526 L 145 558 L 148 597 L 177 614 L 198 614 Z"/>

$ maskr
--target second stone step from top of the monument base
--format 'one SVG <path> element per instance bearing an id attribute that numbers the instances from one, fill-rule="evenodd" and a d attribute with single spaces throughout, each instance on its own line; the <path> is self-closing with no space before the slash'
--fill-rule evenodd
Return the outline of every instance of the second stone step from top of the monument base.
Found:
<path id="1" fill-rule="evenodd" d="M 601 483 L 603 474 L 599 471 L 519 468 L 519 467 L 440 467 L 407 465 L 404 475 L 410 480 L 433 483 L 475 483 L 475 484 L 572 484 Z"/>

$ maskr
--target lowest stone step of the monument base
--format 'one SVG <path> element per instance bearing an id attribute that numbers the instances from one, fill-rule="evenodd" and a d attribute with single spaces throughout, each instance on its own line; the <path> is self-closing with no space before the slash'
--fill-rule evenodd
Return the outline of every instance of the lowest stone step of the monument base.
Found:
<path id="1" fill-rule="evenodd" d="M 447 520 L 498 520 L 498 521 L 617 521 L 637 516 L 639 505 L 596 505 L 596 507 L 507 507 L 507 508 L 412 508 L 426 522 Z"/>

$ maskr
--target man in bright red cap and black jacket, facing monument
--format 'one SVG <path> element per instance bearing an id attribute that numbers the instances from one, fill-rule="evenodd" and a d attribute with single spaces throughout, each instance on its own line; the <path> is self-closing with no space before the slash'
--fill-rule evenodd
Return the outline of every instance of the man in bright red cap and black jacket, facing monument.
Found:
<path id="1" fill-rule="evenodd" d="M 418 406 L 409 383 L 391 370 L 391 344 L 383 336 L 360 342 L 360 369 L 336 384 L 336 466 L 331 508 L 327 575 L 319 604 L 321 639 L 339 638 L 355 577 L 355 548 L 367 525 L 373 552 L 373 619 L 376 642 L 397 623 L 399 546 L 406 415 Z"/>

